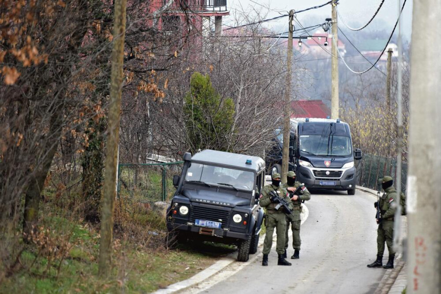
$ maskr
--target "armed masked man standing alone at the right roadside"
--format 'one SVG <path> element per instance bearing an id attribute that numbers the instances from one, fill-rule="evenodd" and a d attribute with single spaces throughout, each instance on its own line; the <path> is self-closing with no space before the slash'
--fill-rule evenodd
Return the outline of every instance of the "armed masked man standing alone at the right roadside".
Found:
<path id="1" fill-rule="evenodd" d="M 385 191 L 378 202 L 374 203 L 374 207 L 379 207 L 380 217 L 377 219 L 377 259 L 368 264 L 368 267 L 384 267 L 393 268 L 393 259 L 395 258 L 395 251 L 392 248 L 393 244 L 393 222 L 395 215 L 395 200 L 397 193 L 393 185 L 393 180 L 389 175 L 382 179 L 378 179 L 382 183 L 382 188 Z M 386 265 L 383 265 L 383 253 L 385 251 L 385 242 L 389 250 L 389 260 Z"/>

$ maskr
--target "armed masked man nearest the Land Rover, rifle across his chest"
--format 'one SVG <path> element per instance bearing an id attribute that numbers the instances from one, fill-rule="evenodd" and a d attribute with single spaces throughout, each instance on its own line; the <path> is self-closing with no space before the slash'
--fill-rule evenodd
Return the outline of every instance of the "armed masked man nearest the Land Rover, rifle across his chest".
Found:
<path id="1" fill-rule="evenodd" d="M 285 188 L 280 185 L 280 174 L 275 172 L 272 174 L 271 185 L 266 185 L 262 189 L 262 194 L 260 194 L 259 204 L 266 208 L 265 211 L 265 241 L 264 241 L 264 258 L 262 260 L 262 265 L 268 265 L 268 254 L 271 251 L 271 246 L 273 243 L 273 232 L 276 228 L 277 234 L 277 246 L 276 251 L 278 253 L 277 265 L 291 265 L 290 262 L 285 260 L 283 254 L 285 252 L 285 230 L 286 230 L 286 216 L 283 209 L 276 210 L 278 202 L 277 199 L 271 195 L 271 192 L 275 191 L 280 198 L 285 199 L 291 206 L 291 200 L 288 197 L 288 192 Z M 292 207 L 290 207 L 292 208 Z"/>

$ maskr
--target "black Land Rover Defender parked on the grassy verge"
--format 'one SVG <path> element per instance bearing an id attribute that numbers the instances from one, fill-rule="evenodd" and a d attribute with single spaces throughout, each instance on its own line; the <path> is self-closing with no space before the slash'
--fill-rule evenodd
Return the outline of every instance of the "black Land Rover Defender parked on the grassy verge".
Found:
<path id="1" fill-rule="evenodd" d="M 265 161 L 256 156 L 204 150 L 184 155 L 176 193 L 167 209 L 166 246 L 177 242 L 235 244 L 238 261 L 256 253 L 264 210 Z"/>

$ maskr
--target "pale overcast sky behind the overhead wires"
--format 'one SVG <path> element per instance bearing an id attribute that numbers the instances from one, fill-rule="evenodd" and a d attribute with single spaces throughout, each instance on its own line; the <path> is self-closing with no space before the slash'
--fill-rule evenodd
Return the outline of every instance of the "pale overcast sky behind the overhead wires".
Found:
<path id="1" fill-rule="evenodd" d="M 299 11 L 312 6 L 322 5 L 326 2 L 328 2 L 328 0 L 227 0 L 230 16 L 225 17 L 223 23 L 232 25 L 234 22 L 233 15 L 235 11 L 245 10 L 248 15 L 253 15 L 253 10 L 257 10 L 260 11 L 260 14 L 267 13 L 266 16 L 264 15 L 264 18 L 271 18 L 280 14 L 286 14 L 290 9 Z M 365 25 L 375 13 L 381 2 L 382 0 L 340 0 L 338 4 L 338 11 L 342 16 L 338 21 L 340 29 L 348 31 L 342 21 L 355 28 Z M 403 0 L 401 3 L 403 3 Z M 397 16 L 398 0 L 385 0 L 383 7 L 365 30 L 384 29 L 388 33 L 392 32 Z M 319 22 L 322 22 L 322 19 L 324 22 L 327 17 L 331 17 L 330 5 L 299 13 L 297 15 L 297 18 L 304 27 L 316 25 Z M 287 23 L 288 17 L 283 17 L 276 21 L 267 22 L 264 26 L 277 32 L 282 32 L 287 31 Z M 407 0 L 406 2 L 401 25 L 404 40 L 410 41 L 412 28 L 412 0 Z M 396 29 L 395 33 L 397 31 L 398 29 Z"/>

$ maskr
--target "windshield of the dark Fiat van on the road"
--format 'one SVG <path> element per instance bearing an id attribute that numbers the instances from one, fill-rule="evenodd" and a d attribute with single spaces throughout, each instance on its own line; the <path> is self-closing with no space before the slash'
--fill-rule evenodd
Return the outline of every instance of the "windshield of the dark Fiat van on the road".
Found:
<path id="1" fill-rule="evenodd" d="M 300 152 L 320 156 L 350 156 L 351 138 L 348 136 L 302 135 L 299 138 Z"/>

